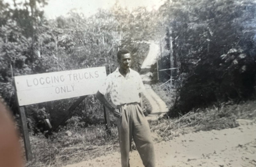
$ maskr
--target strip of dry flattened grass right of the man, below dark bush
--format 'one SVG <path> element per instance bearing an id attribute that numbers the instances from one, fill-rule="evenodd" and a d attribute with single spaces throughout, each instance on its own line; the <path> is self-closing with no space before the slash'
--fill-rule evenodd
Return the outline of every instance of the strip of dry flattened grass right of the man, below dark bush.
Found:
<path id="1" fill-rule="evenodd" d="M 166 116 L 168 117 L 168 116 Z M 255 119 L 255 101 L 234 104 L 233 102 L 222 103 L 221 106 L 193 109 L 187 114 L 174 119 L 160 119 L 151 121 L 151 131 L 156 133 L 155 141 L 171 140 L 181 134 L 221 130 L 239 126 L 236 119 Z"/>

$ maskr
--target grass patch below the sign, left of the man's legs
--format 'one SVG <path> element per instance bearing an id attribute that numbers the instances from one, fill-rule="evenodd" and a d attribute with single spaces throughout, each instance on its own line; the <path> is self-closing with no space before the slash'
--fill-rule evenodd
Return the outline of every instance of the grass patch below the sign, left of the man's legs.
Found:
<path id="1" fill-rule="evenodd" d="M 111 132 L 111 136 L 107 135 L 105 125 L 86 128 L 66 126 L 49 139 L 43 135 L 30 136 L 33 160 L 26 166 L 62 166 L 117 151 L 115 126 L 111 127 Z"/>

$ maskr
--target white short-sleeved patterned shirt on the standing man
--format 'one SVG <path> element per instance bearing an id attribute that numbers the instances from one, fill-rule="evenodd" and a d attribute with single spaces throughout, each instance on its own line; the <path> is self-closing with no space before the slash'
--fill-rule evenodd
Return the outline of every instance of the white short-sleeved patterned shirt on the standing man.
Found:
<path id="1" fill-rule="evenodd" d="M 110 94 L 111 101 L 115 105 L 140 102 L 139 93 L 145 90 L 140 74 L 132 69 L 125 78 L 117 68 L 114 72 L 109 74 L 99 92 L 103 95 Z"/>

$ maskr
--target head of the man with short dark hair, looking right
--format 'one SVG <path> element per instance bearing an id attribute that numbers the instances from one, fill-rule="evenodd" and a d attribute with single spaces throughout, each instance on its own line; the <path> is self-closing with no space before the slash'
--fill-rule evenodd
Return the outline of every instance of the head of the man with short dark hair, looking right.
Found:
<path id="1" fill-rule="evenodd" d="M 131 54 L 128 50 L 126 49 L 120 49 L 117 52 L 117 62 L 120 65 L 120 68 L 126 70 L 131 67 Z"/>

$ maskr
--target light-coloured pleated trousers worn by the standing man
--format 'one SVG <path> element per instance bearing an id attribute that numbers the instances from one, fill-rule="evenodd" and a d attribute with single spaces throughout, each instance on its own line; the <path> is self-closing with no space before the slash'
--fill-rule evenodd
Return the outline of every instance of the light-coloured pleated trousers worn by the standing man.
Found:
<path id="1" fill-rule="evenodd" d="M 148 121 L 139 103 L 120 105 L 122 116 L 117 119 L 122 167 L 130 167 L 129 151 L 132 138 L 145 167 L 155 167 L 155 152 Z"/>

